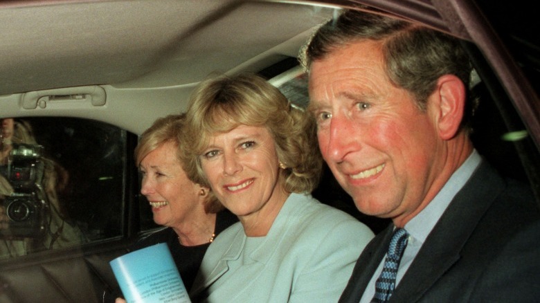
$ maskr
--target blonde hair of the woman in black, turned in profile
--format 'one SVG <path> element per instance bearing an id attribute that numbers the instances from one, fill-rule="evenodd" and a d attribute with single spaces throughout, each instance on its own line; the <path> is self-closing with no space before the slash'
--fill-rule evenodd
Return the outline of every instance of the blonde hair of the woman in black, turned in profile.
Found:
<path id="1" fill-rule="evenodd" d="M 169 115 L 157 119 L 154 124 L 146 129 L 139 138 L 134 153 L 135 165 L 139 167 L 145 156 L 165 143 L 173 143 L 177 146 L 176 157 L 177 160 L 180 160 L 179 151 L 183 148 L 183 145 L 181 145 L 181 133 L 185 120 L 186 115 L 183 113 L 179 115 Z M 206 212 L 219 212 L 219 210 L 223 209 L 221 203 L 215 199 L 206 199 L 204 208 Z"/>

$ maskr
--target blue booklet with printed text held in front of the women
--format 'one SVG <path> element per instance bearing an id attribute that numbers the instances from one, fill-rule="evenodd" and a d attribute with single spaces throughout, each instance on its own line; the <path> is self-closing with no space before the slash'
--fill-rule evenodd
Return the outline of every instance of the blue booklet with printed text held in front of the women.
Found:
<path id="1" fill-rule="evenodd" d="M 165 243 L 129 252 L 109 263 L 127 303 L 190 303 Z"/>

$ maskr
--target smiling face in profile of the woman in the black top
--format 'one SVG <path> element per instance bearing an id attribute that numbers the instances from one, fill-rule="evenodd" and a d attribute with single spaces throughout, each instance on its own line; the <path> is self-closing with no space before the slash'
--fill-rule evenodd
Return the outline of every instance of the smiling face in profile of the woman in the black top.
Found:
<path id="1" fill-rule="evenodd" d="M 164 143 L 141 161 L 141 193 L 146 196 L 154 222 L 174 227 L 186 218 L 204 211 L 200 187 L 192 183 L 177 160 L 177 145 Z"/>

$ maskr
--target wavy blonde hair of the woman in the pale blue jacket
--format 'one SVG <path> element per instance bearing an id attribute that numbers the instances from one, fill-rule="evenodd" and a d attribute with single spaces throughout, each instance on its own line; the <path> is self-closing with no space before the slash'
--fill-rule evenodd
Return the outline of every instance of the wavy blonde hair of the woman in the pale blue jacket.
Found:
<path id="1" fill-rule="evenodd" d="M 209 137 L 239 125 L 267 127 L 278 160 L 286 168 L 287 192 L 312 192 L 321 177 L 322 158 L 312 115 L 291 106 L 285 95 L 258 75 L 221 75 L 195 89 L 186 112 L 181 160 L 192 181 L 210 186 L 199 156 Z"/>

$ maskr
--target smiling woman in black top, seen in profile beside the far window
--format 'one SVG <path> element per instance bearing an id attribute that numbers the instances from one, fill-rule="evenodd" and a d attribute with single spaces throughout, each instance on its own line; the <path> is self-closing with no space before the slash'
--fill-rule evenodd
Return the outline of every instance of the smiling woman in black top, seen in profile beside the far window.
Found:
<path id="1" fill-rule="evenodd" d="M 183 120 L 183 115 L 156 120 L 135 149 L 143 176 L 141 193 L 150 203 L 154 222 L 165 228 L 139 240 L 132 250 L 167 243 L 189 290 L 210 243 L 237 219 L 228 211 L 220 212 L 219 203 L 208 201 L 209 188 L 193 183 L 183 171 L 177 156 L 184 146 L 179 140 Z M 119 289 L 105 293 L 104 302 L 114 302 L 118 295 Z"/>

